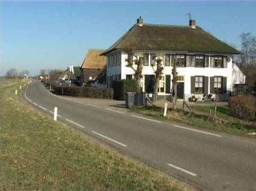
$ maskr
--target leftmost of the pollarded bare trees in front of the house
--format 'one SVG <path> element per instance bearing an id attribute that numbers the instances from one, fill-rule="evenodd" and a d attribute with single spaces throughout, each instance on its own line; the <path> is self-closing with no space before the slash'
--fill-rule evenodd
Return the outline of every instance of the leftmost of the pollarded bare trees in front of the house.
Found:
<path id="1" fill-rule="evenodd" d="M 138 88 L 140 89 L 141 78 L 142 78 L 142 68 L 143 68 L 143 57 L 138 57 L 137 55 L 135 55 L 131 48 L 127 49 L 125 52 L 127 53 L 127 56 L 128 56 L 127 59 L 125 60 L 127 62 L 126 66 L 132 68 L 133 71 L 135 72 L 133 76 L 137 82 Z M 137 65 L 136 69 L 133 67 L 133 63 Z"/>

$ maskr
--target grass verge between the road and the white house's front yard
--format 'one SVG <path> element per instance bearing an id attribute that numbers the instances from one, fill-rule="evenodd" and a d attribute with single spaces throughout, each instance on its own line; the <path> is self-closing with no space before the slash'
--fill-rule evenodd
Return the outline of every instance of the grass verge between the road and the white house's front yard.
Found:
<path id="1" fill-rule="evenodd" d="M 171 120 L 174 122 L 185 123 L 189 125 L 194 125 L 196 127 L 210 129 L 218 132 L 233 134 L 236 136 L 256 138 L 256 136 L 250 135 L 249 133 L 256 132 L 255 124 L 244 125 L 245 122 L 232 117 L 229 115 L 228 106 L 218 106 L 217 107 L 217 119 L 212 120 L 205 118 L 205 114 L 209 113 L 209 110 L 212 110 L 212 115 L 214 112 L 214 106 L 191 106 L 191 109 L 197 113 L 204 113 L 204 117 L 189 115 L 183 113 L 183 111 L 172 111 L 168 110 L 165 119 Z M 158 107 L 135 107 L 131 109 L 134 113 L 139 113 L 143 115 L 149 115 L 155 118 L 163 118 L 163 109 Z M 207 115 L 206 115 L 207 116 Z"/>

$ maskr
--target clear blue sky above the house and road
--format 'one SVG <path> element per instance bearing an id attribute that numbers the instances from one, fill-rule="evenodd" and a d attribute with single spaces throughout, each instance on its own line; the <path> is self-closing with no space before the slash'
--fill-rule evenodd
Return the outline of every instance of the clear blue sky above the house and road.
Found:
<path id="1" fill-rule="evenodd" d="M 7 69 L 81 65 L 89 48 L 106 49 L 142 16 L 145 23 L 196 24 L 240 49 L 240 34 L 256 36 L 253 1 L 0 1 L 0 76 Z"/>

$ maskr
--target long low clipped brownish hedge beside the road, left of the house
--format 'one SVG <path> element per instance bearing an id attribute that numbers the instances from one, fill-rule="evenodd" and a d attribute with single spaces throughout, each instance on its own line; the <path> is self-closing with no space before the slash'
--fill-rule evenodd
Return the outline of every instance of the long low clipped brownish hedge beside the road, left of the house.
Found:
<path id="1" fill-rule="evenodd" d="M 92 97 L 98 99 L 113 99 L 113 88 L 98 88 L 98 87 L 79 87 L 79 86 L 60 86 L 53 85 L 52 89 L 56 94 L 79 96 L 79 97 Z"/>

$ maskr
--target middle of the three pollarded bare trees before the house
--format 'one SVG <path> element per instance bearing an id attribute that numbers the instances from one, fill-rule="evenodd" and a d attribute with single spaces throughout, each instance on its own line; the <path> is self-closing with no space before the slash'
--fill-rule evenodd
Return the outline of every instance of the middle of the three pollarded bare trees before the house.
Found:
<path id="1" fill-rule="evenodd" d="M 156 70 L 154 69 L 154 66 L 152 66 L 154 72 L 155 72 L 155 81 L 154 81 L 154 88 L 153 88 L 153 101 L 157 100 L 158 97 L 158 89 L 159 89 L 159 81 L 161 78 L 161 74 L 163 74 L 164 67 L 161 65 L 161 62 L 163 61 L 160 56 L 152 58 L 156 61 Z"/>

